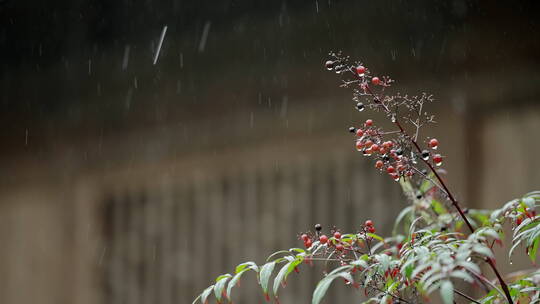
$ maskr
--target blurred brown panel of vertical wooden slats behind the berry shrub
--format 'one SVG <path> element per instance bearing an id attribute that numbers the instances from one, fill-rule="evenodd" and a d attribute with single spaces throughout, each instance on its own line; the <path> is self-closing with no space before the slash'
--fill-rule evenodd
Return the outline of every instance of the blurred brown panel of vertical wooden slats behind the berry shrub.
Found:
<path id="1" fill-rule="evenodd" d="M 237 264 L 263 263 L 274 251 L 301 246 L 297 233 L 315 223 L 351 230 L 372 218 L 388 233 L 404 205 L 399 187 L 376 176 L 362 156 L 347 155 L 177 176 L 106 193 L 99 216 L 103 303 L 191 303 Z M 282 303 L 310 303 L 322 274 L 306 268 L 303 279 L 292 275 L 280 291 Z M 341 288 L 328 296 L 327 303 L 361 297 Z M 233 289 L 233 299 L 264 302 L 254 274 Z"/>

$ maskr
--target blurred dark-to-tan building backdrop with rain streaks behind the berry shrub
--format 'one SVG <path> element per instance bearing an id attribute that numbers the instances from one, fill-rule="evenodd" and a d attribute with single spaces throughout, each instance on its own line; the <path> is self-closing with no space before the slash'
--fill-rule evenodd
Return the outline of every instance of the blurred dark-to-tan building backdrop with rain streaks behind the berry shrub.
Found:
<path id="1" fill-rule="evenodd" d="M 538 13 L 536 1 L 0 1 L 0 303 L 191 303 L 315 223 L 370 218 L 389 233 L 406 201 L 347 132 L 380 117 L 354 110 L 323 66 L 331 50 L 435 95 L 438 124 L 421 136 L 437 135 L 463 204 L 538 190 Z M 320 273 L 302 271 L 282 303 L 310 302 Z M 264 301 L 254 277 L 242 287 L 235 302 Z M 358 298 L 336 287 L 327 303 Z"/>

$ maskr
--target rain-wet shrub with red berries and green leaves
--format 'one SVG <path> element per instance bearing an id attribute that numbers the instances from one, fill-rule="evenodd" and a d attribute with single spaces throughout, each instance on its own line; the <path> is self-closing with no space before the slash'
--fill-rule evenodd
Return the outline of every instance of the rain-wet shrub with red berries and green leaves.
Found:
<path id="1" fill-rule="evenodd" d="M 242 263 L 234 273 L 219 276 L 193 303 L 207 303 L 212 293 L 218 302 L 231 301 L 231 289 L 248 272 L 257 275 L 266 299 L 277 302 L 278 290 L 291 272 L 318 262 L 335 268 L 324 272 L 313 292 L 313 304 L 321 302 L 336 279 L 363 289 L 369 297 L 366 302 L 425 302 L 438 291 L 445 304 L 454 303 L 456 297 L 474 303 L 540 303 L 540 271 L 527 270 L 507 282 L 493 253 L 494 246 L 502 245 L 503 225 L 510 222 L 513 235 L 508 254 L 524 246 L 534 263 L 540 243 L 536 215 L 540 191 L 497 210 L 463 208 L 441 176 L 444 156 L 438 152 L 439 141 L 419 137 L 420 129 L 434 122 L 426 111 L 433 97 L 389 95 L 386 91 L 394 82 L 390 77 L 374 75 L 361 62 L 351 63 L 340 53 L 330 53 L 330 57 L 325 66 L 343 77 L 342 87 L 352 89 L 356 109 L 382 112 L 394 127 L 384 130 L 367 119 L 349 129 L 356 137 L 356 149 L 374 159 L 375 170 L 398 182 L 410 201 L 396 218 L 393 235 L 379 236 L 371 220 L 351 233 L 335 228 L 325 232 L 317 224 L 313 232 L 300 235 L 304 248 L 275 252 L 263 265 Z M 486 278 L 483 264 L 495 273 L 496 283 Z M 473 284 L 483 296 L 474 299 L 456 289 L 458 281 Z"/>

